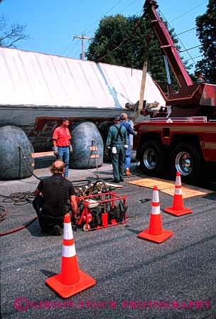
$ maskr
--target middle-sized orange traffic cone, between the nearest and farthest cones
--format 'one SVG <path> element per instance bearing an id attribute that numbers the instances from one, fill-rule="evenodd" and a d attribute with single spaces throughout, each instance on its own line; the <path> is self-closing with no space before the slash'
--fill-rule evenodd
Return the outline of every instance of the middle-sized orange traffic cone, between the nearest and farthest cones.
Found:
<path id="1" fill-rule="evenodd" d="M 153 198 L 151 204 L 149 227 L 143 232 L 140 232 L 137 237 L 148 239 L 151 242 L 157 242 L 158 244 L 161 244 L 161 242 L 164 242 L 171 236 L 173 236 L 173 232 L 162 228 L 158 187 L 153 186 Z"/>

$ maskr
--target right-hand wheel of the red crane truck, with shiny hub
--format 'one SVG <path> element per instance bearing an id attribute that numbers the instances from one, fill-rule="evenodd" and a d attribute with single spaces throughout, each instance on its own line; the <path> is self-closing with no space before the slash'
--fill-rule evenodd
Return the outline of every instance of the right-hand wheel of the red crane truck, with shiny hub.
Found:
<path id="1" fill-rule="evenodd" d="M 175 178 L 176 171 L 180 172 L 181 180 L 191 183 L 198 180 L 202 160 L 193 144 L 181 143 L 171 153 L 171 176 Z"/>

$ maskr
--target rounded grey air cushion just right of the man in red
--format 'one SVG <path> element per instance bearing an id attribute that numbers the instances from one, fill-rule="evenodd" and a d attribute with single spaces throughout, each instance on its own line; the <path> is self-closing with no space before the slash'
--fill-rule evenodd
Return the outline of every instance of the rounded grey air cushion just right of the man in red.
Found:
<path id="1" fill-rule="evenodd" d="M 97 126 L 91 121 L 79 121 L 72 125 L 70 168 L 96 168 L 102 166 L 104 143 Z"/>

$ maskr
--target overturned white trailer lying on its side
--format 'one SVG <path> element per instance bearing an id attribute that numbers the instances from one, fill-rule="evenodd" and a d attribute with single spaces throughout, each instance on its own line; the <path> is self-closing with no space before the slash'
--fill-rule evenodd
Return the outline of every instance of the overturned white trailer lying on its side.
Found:
<path id="1" fill-rule="evenodd" d="M 0 125 L 4 126 L 1 139 L 9 131 L 5 126 L 18 126 L 16 136 L 22 129 L 35 151 L 45 151 L 50 149 L 53 129 L 62 117 L 72 123 L 92 121 L 104 138 L 110 119 L 129 112 L 126 103 L 139 100 L 142 72 L 0 47 L 0 75 Z M 144 99 L 165 105 L 150 75 Z M 13 139 L 16 136 L 13 134 Z M 0 161 L 4 152 L 0 150 Z"/>

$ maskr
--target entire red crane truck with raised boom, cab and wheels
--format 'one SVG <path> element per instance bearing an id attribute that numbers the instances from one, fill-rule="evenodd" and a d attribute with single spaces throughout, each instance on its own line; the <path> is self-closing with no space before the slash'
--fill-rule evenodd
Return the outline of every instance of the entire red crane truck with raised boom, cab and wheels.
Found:
<path id="1" fill-rule="evenodd" d="M 190 182 L 198 178 L 205 163 L 216 163 L 216 85 L 192 82 L 157 8 L 155 0 L 146 0 L 144 17 L 151 21 L 179 90 L 163 94 L 171 109 L 169 116 L 134 126 L 139 132 L 134 149 L 147 175 L 171 171 L 174 177 L 180 171 L 183 180 Z M 148 114 L 146 109 L 143 114 Z"/>

